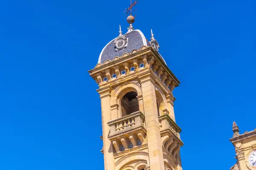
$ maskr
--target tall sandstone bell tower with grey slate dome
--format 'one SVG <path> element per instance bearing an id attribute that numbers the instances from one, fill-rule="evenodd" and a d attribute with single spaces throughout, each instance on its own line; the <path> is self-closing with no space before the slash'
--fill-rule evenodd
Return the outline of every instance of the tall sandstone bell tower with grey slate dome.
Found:
<path id="1" fill-rule="evenodd" d="M 152 31 L 148 41 L 120 27 L 89 71 L 99 84 L 105 170 L 182 170 L 172 94 L 180 82 L 158 48 Z"/>

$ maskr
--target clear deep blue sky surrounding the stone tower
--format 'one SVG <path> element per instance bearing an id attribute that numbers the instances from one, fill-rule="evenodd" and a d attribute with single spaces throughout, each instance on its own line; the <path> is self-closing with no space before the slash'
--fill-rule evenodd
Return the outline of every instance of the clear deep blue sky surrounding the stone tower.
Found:
<path id="1" fill-rule="evenodd" d="M 87 73 L 118 36 L 129 0 L 1 0 L 0 169 L 103 170 L 97 84 Z M 141 0 L 134 28 L 160 44 L 183 169 L 227 170 L 232 122 L 253 130 L 255 0 Z M 88 156 L 90 155 L 90 156 Z M 200 162 L 199 162 L 200 161 Z M 88 168 L 89 167 L 89 168 Z"/>

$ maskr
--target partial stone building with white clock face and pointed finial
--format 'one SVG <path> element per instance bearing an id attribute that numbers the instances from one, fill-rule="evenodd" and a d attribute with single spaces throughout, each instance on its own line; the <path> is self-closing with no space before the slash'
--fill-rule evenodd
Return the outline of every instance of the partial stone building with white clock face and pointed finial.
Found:
<path id="1" fill-rule="evenodd" d="M 256 129 L 239 134 L 239 127 L 233 122 L 233 143 L 236 150 L 236 164 L 230 170 L 256 170 Z"/>

